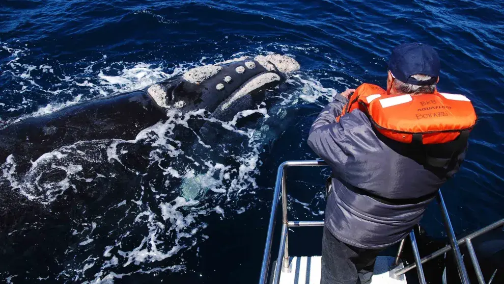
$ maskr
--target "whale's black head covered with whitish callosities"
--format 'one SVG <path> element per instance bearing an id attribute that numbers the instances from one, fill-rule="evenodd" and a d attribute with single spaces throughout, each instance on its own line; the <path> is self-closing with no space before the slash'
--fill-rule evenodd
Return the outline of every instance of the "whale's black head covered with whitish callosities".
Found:
<path id="1" fill-rule="evenodd" d="M 181 76 L 152 85 L 147 91 L 163 108 L 205 108 L 223 113 L 239 101 L 240 108 L 250 107 L 257 94 L 282 83 L 299 67 L 294 58 L 285 55 L 241 57 L 192 68 Z M 254 98 L 246 97 L 248 94 L 254 94 Z"/>

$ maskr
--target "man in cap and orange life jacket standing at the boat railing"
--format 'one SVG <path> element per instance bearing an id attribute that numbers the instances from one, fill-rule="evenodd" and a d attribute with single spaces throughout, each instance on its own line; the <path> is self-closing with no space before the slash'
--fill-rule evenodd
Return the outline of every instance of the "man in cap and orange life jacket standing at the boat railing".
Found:
<path id="1" fill-rule="evenodd" d="M 411 231 L 458 171 L 477 120 L 467 97 L 436 90 L 431 46 L 396 47 L 388 68 L 387 90 L 346 90 L 310 130 L 308 144 L 332 169 L 323 284 L 371 281 L 377 254 Z"/>

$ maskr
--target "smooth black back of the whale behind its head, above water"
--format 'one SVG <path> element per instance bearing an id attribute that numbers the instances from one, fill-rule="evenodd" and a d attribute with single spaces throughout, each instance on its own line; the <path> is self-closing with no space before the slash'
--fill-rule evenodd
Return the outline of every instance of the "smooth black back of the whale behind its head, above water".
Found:
<path id="1" fill-rule="evenodd" d="M 0 161 L 10 154 L 36 159 L 82 140 L 133 139 L 166 117 L 145 91 L 132 91 L 81 102 L 50 114 L 26 118 L 0 132 Z"/>

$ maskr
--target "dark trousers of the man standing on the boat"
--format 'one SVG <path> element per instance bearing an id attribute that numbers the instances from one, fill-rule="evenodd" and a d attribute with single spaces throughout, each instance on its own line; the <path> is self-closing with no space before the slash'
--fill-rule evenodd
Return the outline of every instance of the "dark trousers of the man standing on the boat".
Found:
<path id="1" fill-rule="evenodd" d="M 371 282 L 376 256 L 381 249 L 345 244 L 324 227 L 321 284 L 366 284 Z"/>

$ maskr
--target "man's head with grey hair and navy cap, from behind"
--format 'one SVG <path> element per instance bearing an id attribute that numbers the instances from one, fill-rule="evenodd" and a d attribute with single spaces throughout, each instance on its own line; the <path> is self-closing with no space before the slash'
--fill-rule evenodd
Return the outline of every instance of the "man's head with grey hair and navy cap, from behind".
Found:
<path id="1" fill-rule="evenodd" d="M 406 43 L 394 48 L 388 62 L 387 91 L 433 93 L 439 81 L 439 57 L 427 44 Z"/>

